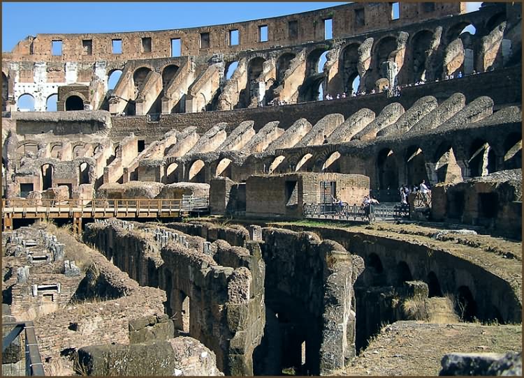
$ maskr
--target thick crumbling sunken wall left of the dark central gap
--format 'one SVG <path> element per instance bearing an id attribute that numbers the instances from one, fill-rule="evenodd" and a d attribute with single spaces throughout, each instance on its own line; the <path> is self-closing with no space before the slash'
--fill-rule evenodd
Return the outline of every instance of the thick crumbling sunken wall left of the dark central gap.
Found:
<path id="1" fill-rule="evenodd" d="M 253 349 L 260 342 L 265 319 L 264 265 L 256 252 L 258 244 L 251 253 L 225 241 L 210 247 L 198 241 L 189 245 L 191 236 L 180 232 L 175 242 L 157 242 L 154 235 L 168 229 L 152 232 L 131 224 L 136 228 L 122 228 L 121 222 L 89 225 L 85 241 L 94 243 L 142 285 L 166 289 L 166 312 L 174 316 L 175 326 L 214 351 L 219 370 L 252 374 Z"/>

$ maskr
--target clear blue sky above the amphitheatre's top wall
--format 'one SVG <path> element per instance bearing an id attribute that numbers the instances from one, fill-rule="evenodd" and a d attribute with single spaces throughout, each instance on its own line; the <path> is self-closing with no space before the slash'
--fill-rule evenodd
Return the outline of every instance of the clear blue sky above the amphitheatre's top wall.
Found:
<path id="1" fill-rule="evenodd" d="M 37 33 L 112 33 L 201 27 L 289 15 L 344 2 L 265 3 L 6 3 L 2 51 Z M 481 3 L 469 3 L 476 10 Z"/>

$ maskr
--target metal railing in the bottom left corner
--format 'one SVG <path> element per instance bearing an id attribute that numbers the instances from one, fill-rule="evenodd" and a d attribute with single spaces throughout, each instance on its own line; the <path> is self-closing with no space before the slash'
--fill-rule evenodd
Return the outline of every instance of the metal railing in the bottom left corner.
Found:
<path id="1" fill-rule="evenodd" d="M 2 375 L 45 375 L 33 322 L 3 323 L 2 333 Z"/>

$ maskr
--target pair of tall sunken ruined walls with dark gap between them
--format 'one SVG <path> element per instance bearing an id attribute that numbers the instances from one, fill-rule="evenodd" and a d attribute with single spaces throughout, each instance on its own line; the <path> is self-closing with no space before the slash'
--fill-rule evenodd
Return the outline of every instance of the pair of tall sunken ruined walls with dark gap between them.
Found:
<path id="1" fill-rule="evenodd" d="M 185 224 L 134 223 L 126 231 L 119 222 L 90 225 L 84 237 L 141 285 L 166 290 L 175 327 L 214 351 L 226 375 L 276 374 L 286 348 L 293 353 L 284 363 L 300 366 L 304 342 L 305 369 L 313 374 L 343 368 L 355 355 L 352 285 L 363 270 L 360 257 L 314 234 L 263 229 L 261 243 L 245 229 L 233 239 L 236 229 L 214 237 L 207 227 L 191 229 L 205 239 L 184 234 Z M 243 246 L 210 242 L 219 237 Z M 304 285 L 312 290 L 302 291 Z M 284 319 L 296 326 L 282 336 L 275 326 Z M 282 349 L 268 351 L 280 337 Z"/>

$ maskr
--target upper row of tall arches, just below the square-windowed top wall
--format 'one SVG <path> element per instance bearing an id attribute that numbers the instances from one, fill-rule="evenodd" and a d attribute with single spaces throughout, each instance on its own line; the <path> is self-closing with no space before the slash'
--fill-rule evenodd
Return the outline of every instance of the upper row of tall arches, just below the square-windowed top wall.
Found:
<path id="1" fill-rule="evenodd" d="M 453 24 L 451 27 L 447 28 L 442 35 L 442 43 L 439 50 L 445 49 L 449 43 L 456 38 L 463 40 L 465 47 L 470 49 L 474 48 L 474 43 L 472 42 L 471 36 L 475 36 L 478 40 L 479 36 L 476 31 L 481 31 L 483 34 L 490 32 L 494 27 L 503 22 L 506 18 L 504 12 L 496 13 L 495 15 L 489 17 L 487 20 L 461 20 L 456 24 Z M 407 49 L 405 56 L 405 64 L 402 66 L 400 73 L 398 73 L 398 84 L 408 84 L 412 82 L 419 81 L 421 79 L 434 80 L 436 77 L 442 75 L 442 64 L 435 67 L 434 72 L 427 72 L 426 66 L 428 65 L 428 51 L 431 49 L 431 44 L 433 43 L 435 31 L 430 29 L 423 29 L 417 31 L 413 36 L 409 36 L 407 40 Z M 351 93 L 357 91 L 358 88 L 372 89 L 374 86 L 375 80 L 381 77 L 381 63 L 388 60 L 394 60 L 393 52 L 398 47 L 397 43 L 398 36 L 388 35 L 380 38 L 375 43 L 373 43 L 371 51 L 371 63 L 370 67 L 367 70 L 365 75 L 365 81 L 361 82 L 361 77 L 358 73 L 358 59 L 359 59 L 359 49 L 361 48 L 361 42 L 358 41 L 349 41 L 347 45 L 341 50 L 339 56 L 339 75 L 342 82 L 342 87 L 340 91 Z M 325 77 L 323 75 L 323 63 L 326 61 L 326 54 L 328 52 L 328 45 L 323 45 L 322 47 L 316 47 L 314 50 L 307 54 L 306 61 L 306 75 L 303 81 L 303 84 L 300 86 L 298 101 L 311 101 L 319 100 L 324 96 L 323 83 L 325 82 Z M 296 52 L 286 51 L 282 52 L 277 58 L 276 63 L 276 77 L 273 78 L 273 81 L 268 83 L 265 89 L 264 97 L 265 101 L 268 102 L 274 97 L 274 89 L 282 84 L 284 79 L 284 73 L 291 65 L 291 61 L 296 58 Z M 263 72 L 263 63 L 265 59 L 261 56 L 256 56 L 248 61 L 247 65 L 247 86 L 243 89 L 242 96 L 240 96 L 240 101 L 236 107 L 247 107 L 249 101 L 251 100 L 253 93 L 255 91 L 254 82 L 259 79 L 261 73 Z M 231 78 L 234 70 L 238 66 L 238 61 L 230 61 L 226 63 L 226 80 Z M 165 94 L 168 84 L 173 80 L 173 77 L 177 74 L 179 66 L 175 64 L 168 64 L 163 67 L 161 71 L 161 79 L 163 90 L 157 102 L 153 105 L 151 112 L 161 112 L 160 99 Z M 464 67 L 456 68 L 456 71 L 464 71 Z M 147 75 L 152 71 L 152 68 L 147 66 L 140 66 L 133 70 L 133 86 L 135 88 L 135 93 L 131 101 L 129 101 L 128 107 L 126 109 L 126 114 L 133 113 L 133 101 L 136 100 L 139 96 Z M 7 77 L 2 73 L 3 86 L 2 86 L 2 99 L 3 104 L 6 103 L 8 97 L 8 84 Z M 430 75 L 430 77 L 428 77 Z M 122 70 L 115 68 L 108 72 L 108 89 L 112 90 L 117 87 L 117 83 L 122 77 Z M 53 111 L 56 109 L 54 103 L 56 103 L 55 96 L 56 93 L 47 100 L 47 110 Z M 17 99 L 21 104 L 18 107 L 20 109 L 34 109 L 34 98 L 29 93 L 24 93 L 20 98 Z M 66 104 L 66 110 L 80 109 L 80 99 L 71 98 L 68 104 Z M 212 99 L 203 99 L 205 102 L 206 109 L 212 108 L 210 103 Z M 32 103 L 32 105 L 31 105 Z M 83 104 L 82 104 L 83 105 Z M 108 106 L 107 104 L 105 106 Z M 83 107 L 82 107 L 83 109 Z M 180 110 L 180 109 L 178 109 Z M 174 112 L 177 112 L 177 109 L 173 109 Z"/>

